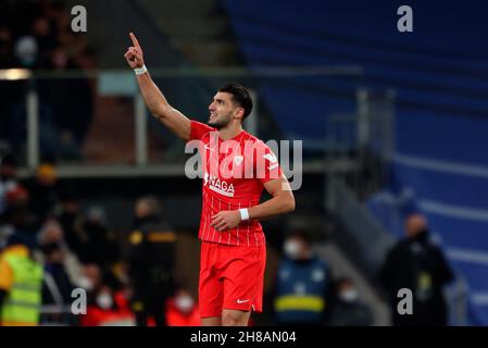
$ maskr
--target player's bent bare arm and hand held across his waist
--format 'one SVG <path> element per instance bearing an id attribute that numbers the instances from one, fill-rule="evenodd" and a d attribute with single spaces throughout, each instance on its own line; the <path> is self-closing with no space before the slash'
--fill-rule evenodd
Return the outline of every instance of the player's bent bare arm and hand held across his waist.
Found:
<path id="1" fill-rule="evenodd" d="M 249 220 L 264 220 L 295 210 L 295 196 L 284 174 L 263 184 L 271 199 L 248 209 Z M 217 231 L 235 228 L 241 222 L 238 210 L 221 211 L 212 216 L 211 225 Z"/>

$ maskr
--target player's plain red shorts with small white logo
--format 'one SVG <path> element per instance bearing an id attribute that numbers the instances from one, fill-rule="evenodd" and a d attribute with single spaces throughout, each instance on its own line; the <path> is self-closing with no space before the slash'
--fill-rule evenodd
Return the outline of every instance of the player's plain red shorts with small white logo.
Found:
<path id="1" fill-rule="evenodd" d="M 201 318 L 223 309 L 263 311 L 266 246 L 238 247 L 202 241 L 199 310 Z"/>

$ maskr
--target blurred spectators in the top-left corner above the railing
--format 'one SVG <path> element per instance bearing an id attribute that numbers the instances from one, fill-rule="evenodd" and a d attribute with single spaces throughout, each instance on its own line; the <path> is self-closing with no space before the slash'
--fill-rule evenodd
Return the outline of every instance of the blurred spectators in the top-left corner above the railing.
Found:
<path id="1" fill-rule="evenodd" d="M 71 22 L 62 1 L 2 1 L 0 69 L 93 67 L 86 38 L 71 29 Z"/>

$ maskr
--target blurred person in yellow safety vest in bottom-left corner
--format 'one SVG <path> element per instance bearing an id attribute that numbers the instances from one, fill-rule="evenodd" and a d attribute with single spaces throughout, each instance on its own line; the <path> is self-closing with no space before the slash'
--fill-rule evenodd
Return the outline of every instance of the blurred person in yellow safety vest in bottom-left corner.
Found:
<path id="1" fill-rule="evenodd" d="M 42 301 L 42 265 L 17 235 L 0 254 L 0 326 L 37 326 Z"/>

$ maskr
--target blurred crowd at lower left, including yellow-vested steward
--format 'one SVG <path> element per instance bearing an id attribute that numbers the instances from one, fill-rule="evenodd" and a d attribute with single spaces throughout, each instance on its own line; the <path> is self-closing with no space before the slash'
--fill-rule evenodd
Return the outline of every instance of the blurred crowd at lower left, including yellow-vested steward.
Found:
<path id="1" fill-rule="evenodd" d="M 135 202 L 123 248 L 103 207 L 82 210 L 52 164 L 39 165 L 30 184 L 16 169 L 14 157 L 1 158 L 0 325 L 199 324 L 196 300 L 174 274 L 176 234 L 155 198 Z M 84 315 L 72 308 L 79 288 Z"/>

